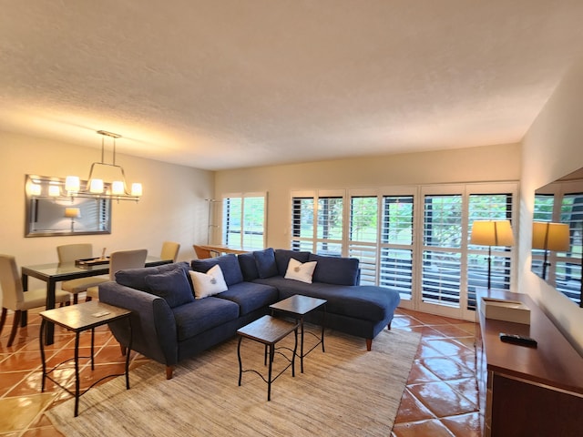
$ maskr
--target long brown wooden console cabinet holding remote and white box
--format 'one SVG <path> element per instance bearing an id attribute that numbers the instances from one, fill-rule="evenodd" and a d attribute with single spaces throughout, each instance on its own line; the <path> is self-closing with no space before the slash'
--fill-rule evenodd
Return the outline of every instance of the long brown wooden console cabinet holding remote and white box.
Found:
<path id="1" fill-rule="evenodd" d="M 530 325 L 486 319 L 482 297 L 518 300 Z M 581 314 L 583 317 L 583 314 Z M 480 411 L 486 437 L 583 435 L 583 357 L 525 294 L 478 296 L 476 341 Z M 537 340 L 537 348 L 505 343 L 499 333 Z"/>

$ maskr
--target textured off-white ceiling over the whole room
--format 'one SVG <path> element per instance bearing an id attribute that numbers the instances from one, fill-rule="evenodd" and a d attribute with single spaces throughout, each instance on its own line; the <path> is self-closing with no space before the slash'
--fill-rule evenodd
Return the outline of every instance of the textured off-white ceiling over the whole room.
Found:
<path id="1" fill-rule="evenodd" d="M 0 0 L 0 130 L 223 169 L 521 140 L 581 0 Z"/>

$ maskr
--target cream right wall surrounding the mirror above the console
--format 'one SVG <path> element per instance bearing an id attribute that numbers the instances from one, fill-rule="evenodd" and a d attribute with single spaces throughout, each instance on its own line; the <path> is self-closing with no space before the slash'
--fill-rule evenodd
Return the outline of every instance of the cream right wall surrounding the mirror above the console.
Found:
<path id="1" fill-rule="evenodd" d="M 583 61 L 573 66 L 523 142 L 520 217 L 520 290 L 547 311 L 583 353 L 583 309 L 530 271 L 534 192 L 583 167 Z"/>

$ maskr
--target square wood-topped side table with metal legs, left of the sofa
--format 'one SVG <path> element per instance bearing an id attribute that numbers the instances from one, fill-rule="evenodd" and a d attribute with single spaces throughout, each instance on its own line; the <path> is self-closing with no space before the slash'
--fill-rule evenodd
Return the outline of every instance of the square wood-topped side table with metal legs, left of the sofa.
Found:
<path id="1" fill-rule="evenodd" d="M 43 362 L 43 379 L 42 379 L 42 387 L 41 391 L 45 391 L 45 379 L 48 378 L 49 380 L 53 381 L 67 391 L 68 393 L 75 396 L 75 417 L 77 417 L 79 412 L 79 397 L 87 392 L 91 387 L 96 385 L 98 382 L 103 381 L 106 378 L 111 378 L 114 376 L 121 376 L 123 373 L 120 374 L 111 374 L 104 376 L 103 378 L 95 381 L 91 384 L 86 391 L 80 392 L 80 381 L 79 381 L 79 358 L 90 358 L 91 359 L 91 370 L 95 370 L 94 364 L 94 344 L 95 344 L 95 329 L 98 326 L 105 325 L 114 320 L 121 320 L 126 319 L 128 320 L 129 324 L 129 345 L 128 350 L 126 351 L 126 389 L 129 390 L 129 352 L 131 351 L 131 320 L 129 315 L 131 314 L 130 310 L 125 310 L 123 308 L 114 307 L 113 305 L 108 305 L 107 303 L 101 303 L 99 301 L 90 301 L 86 303 L 78 303 L 77 305 L 71 305 L 68 307 L 61 307 L 56 308 L 54 310 L 46 310 L 40 313 L 42 318 L 41 325 L 40 325 L 40 356 L 41 361 Z M 72 359 L 68 359 L 66 361 L 62 361 L 56 366 L 47 371 L 46 370 L 46 358 L 45 358 L 45 341 L 44 334 L 46 330 L 46 325 L 48 323 L 55 323 L 56 325 L 62 326 L 66 330 L 72 330 L 75 332 L 75 391 L 70 391 L 67 387 L 62 385 L 59 381 L 56 381 L 50 373 L 55 371 L 61 365 L 65 364 Z M 91 355 L 90 357 L 79 357 L 79 334 L 84 330 L 91 330 Z"/>

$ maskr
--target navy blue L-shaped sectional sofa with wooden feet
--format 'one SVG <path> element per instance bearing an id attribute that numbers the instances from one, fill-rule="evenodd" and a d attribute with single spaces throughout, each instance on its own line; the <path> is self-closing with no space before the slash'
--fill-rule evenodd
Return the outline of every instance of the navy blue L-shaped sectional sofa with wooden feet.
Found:
<path id="1" fill-rule="evenodd" d="M 312 283 L 285 279 L 290 259 L 316 261 Z M 189 269 L 205 273 L 215 265 L 228 290 L 194 299 Z M 236 331 L 269 313 L 269 306 L 294 294 L 328 300 L 325 325 L 366 339 L 390 329 L 399 294 L 360 286 L 358 259 L 323 257 L 310 252 L 265 249 L 211 259 L 194 259 L 158 267 L 121 270 L 116 281 L 99 286 L 99 300 L 132 310 L 132 350 L 166 365 L 166 376 L 179 361 L 228 340 Z M 320 323 L 322 312 L 308 320 Z M 110 324 L 122 345 L 128 324 Z"/>

